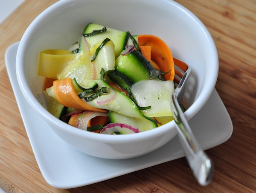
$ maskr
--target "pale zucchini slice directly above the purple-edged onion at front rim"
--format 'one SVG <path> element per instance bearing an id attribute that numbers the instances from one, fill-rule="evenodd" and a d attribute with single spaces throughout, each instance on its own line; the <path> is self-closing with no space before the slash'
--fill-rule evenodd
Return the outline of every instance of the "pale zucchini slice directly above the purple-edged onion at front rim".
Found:
<path id="1" fill-rule="evenodd" d="M 138 119 L 138 118 L 116 113 L 115 111 L 109 111 L 108 116 L 111 122 L 119 122 L 119 123 L 131 125 L 134 128 L 138 128 L 140 132 L 157 128 L 157 125 L 154 122 L 146 118 Z"/>

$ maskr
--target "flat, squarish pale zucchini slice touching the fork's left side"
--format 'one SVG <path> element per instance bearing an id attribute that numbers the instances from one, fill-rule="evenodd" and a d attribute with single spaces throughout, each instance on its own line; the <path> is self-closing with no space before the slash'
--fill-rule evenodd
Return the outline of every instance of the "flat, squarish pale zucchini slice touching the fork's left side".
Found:
<path id="1" fill-rule="evenodd" d="M 171 97 L 174 91 L 172 81 L 143 80 L 131 86 L 137 104 L 151 106 L 142 113 L 148 117 L 172 116 Z"/>

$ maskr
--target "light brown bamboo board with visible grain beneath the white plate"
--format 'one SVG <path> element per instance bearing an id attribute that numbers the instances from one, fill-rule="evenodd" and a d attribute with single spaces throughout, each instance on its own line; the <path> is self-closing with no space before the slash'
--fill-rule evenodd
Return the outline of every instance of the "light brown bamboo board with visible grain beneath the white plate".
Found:
<path id="1" fill-rule="evenodd" d="M 233 122 L 233 135 L 207 150 L 215 174 L 195 181 L 185 158 L 74 189 L 45 182 L 33 155 L 9 78 L 4 53 L 57 0 L 26 0 L 0 25 L 0 187 L 6 192 L 256 192 L 256 1 L 176 0 L 208 28 L 219 56 L 216 89 Z"/>

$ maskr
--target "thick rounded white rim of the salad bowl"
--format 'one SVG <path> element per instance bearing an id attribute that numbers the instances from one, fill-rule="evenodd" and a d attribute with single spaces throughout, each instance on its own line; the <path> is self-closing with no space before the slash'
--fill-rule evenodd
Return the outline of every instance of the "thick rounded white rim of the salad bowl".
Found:
<path id="1" fill-rule="evenodd" d="M 165 133 L 175 129 L 175 122 L 171 121 L 169 123 L 166 123 L 165 125 L 158 127 L 157 129 L 152 129 L 152 130 L 144 131 L 141 133 L 119 135 L 118 137 L 116 137 L 116 135 L 99 135 L 99 133 L 84 132 L 81 129 L 74 128 L 73 126 L 62 122 L 61 120 L 58 120 L 53 115 L 51 115 L 38 102 L 38 100 L 35 98 L 34 94 L 32 93 L 30 86 L 26 84 L 26 77 L 24 77 L 24 73 L 22 73 L 25 68 L 24 64 L 26 59 L 25 57 L 26 53 L 24 51 L 27 50 L 28 42 L 31 38 L 31 34 L 33 34 L 33 31 L 35 31 L 40 21 L 44 20 L 44 18 L 47 17 L 48 13 L 53 13 L 54 11 L 57 11 L 60 7 L 63 8 L 64 6 L 69 6 L 70 3 L 76 3 L 76 2 L 81 2 L 81 0 L 61 0 L 56 2 L 46 10 L 44 10 L 29 25 L 29 27 L 27 28 L 27 30 L 23 34 L 23 37 L 20 40 L 20 44 L 17 50 L 17 57 L 16 57 L 16 73 L 17 73 L 17 80 L 18 80 L 20 89 L 24 97 L 28 101 L 29 105 L 31 105 L 32 108 L 36 111 L 36 113 L 39 114 L 44 120 L 46 120 L 48 124 L 52 125 L 53 127 L 61 129 L 62 131 L 69 133 L 70 135 L 81 136 L 84 139 L 93 140 L 93 141 L 101 141 L 101 142 L 108 142 L 108 143 L 134 142 L 137 140 L 145 140 L 145 139 L 154 138 L 156 136 L 164 135 Z M 151 0 L 151 2 L 155 2 L 155 1 Z M 189 15 L 195 21 L 197 26 L 199 26 L 202 29 L 202 31 L 204 31 L 204 34 L 206 35 L 207 40 L 209 42 L 210 52 L 212 53 L 212 57 L 211 57 L 212 63 L 215 63 L 218 65 L 218 53 L 217 53 L 215 43 L 209 31 L 201 22 L 201 20 L 199 20 L 198 17 L 196 17 L 195 14 L 193 14 L 191 11 L 189 11 L 184 6 L 180 5 L 179 3 L 173 0 L 163 0 L 162 2 L 171 3 L 178 9 L 181 9 L 185 14 Z M 213 72 L 208 77 L 208 79 L 210 78 L 211 81 L 209 81 L 207 88 L 204 88 L 204 92 L 203 93 L 201 92 L 198 95 L 195 102 L 193 102 L 193 104 L 184 113 L 184 115 L 188 120 L 191 119 L 192 116 L 194 116 L 198 111 L 200 111 L 200 109 L 204 106 L 204 104 L 207 102 L 210 95 L 212 94 L 212 91 L 214 89 L 214 86 L 218 77 L 218 68 L 212 68 L 212 70 Z M 203 85 L 203 87 L 205 87 L 205 85 Z"/>

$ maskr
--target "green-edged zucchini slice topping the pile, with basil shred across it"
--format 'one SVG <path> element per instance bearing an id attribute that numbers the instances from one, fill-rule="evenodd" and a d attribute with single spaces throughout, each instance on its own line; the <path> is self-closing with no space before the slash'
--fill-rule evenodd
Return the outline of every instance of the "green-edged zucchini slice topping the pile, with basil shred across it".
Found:
<path id="1" fill-rule="evenodd" d="M 83 34 L 90 34 L 94 30 L 101 30 L 104 26 L 98 25 L 96 23 L 89 23 L 85 28 Z M 93 36 L 85 37 L 89 47 L 93 47 L 99 41 L 105 40 L 108 37 L 111 39 L 115 45 L 115 58 L 117 58 L 122 50 L 124 49 L 125 45 L 127 44 L 127 34 L 124 31 L 119 31 L 112 28 L 107 28 L 105 32 L 95 34 Z"/>

